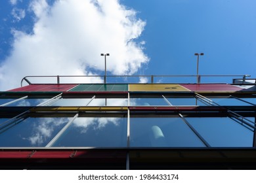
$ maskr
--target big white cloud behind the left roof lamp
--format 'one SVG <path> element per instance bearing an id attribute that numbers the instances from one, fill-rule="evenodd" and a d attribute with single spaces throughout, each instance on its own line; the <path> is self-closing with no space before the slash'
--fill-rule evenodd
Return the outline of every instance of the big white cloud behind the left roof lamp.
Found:
<path id="1" fill-rule="evenodd" d="M 135 41 L 146 23 L 118 0 L 59 0 L 52 7 L 33 0 L 30 8 L 36 16 L 33 34 L 12 31 L 11 55 L 0 65 L 0 90 L 19 87 L 26 75 L 99 75 L 101 53 L 110 54 L 107 71 L 113 75 L 132 75 L 148 62 L 144 42 Z"/>

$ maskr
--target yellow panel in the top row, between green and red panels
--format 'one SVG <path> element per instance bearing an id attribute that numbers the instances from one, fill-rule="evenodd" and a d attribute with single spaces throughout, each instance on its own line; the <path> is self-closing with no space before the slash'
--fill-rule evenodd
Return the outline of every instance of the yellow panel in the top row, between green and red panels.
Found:
<path id="1" fill-rule="evenodd" d="M 190 91 L 179 84 L 130 84 L 131 92 L 184 92 Z"/>

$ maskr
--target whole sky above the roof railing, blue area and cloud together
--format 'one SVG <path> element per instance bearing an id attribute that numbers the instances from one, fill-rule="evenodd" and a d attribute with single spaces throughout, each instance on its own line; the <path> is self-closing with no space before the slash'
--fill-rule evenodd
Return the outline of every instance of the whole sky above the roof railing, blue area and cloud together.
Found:
<path id="1" fill-rule="evenodd" d="M 200 74 L 255 78 L 255 7 L 253 0 L 1 1 L 0 90 L 26 75 L 102 75 L 102 52 L 110 53 L 108 75 L 195 75 L 194 53 L 203 52 Z"/>

